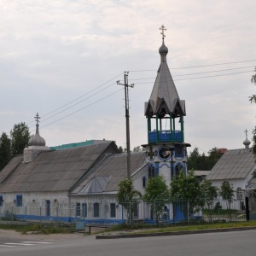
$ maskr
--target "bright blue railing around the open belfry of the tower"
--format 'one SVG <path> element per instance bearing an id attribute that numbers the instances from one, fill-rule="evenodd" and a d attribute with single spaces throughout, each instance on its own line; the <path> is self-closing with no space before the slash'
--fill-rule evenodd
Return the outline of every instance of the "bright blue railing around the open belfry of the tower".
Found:
<path id="1" fill-rule="evenodd" d="M 148 143 L 170 143 L 177 142 L 183 143 L 183 131 L 149 131 Z"/>

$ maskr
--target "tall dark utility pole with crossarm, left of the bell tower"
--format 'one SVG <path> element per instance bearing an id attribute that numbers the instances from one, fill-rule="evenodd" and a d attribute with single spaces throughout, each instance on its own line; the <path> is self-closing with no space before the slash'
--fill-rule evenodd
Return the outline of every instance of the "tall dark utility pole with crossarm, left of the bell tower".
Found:
<path id="1" fill-rule="evenodd" d="M 125 119 L 126 119 L 126 150 L 127 150 L 127 177 L 131 179 L 131 149 L 130 149 L 130 122 L 129 122 L 129 87 L 133 88 L 134 84 L 128 84 L 128 73 L 125 72 Z M 120 84 L 120 81 L 117 81 Z"/>

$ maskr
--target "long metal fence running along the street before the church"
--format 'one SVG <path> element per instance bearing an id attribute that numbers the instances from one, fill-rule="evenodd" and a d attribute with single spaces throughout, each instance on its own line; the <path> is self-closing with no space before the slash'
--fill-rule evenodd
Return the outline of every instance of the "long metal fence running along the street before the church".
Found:
<path id="1" fill-rule="evenodd" d="M 190 224 L 229 222 L 256 218 L 256 195 L 236 195 L 230 201 L 206 199 L 155 199 L 121 201 L 84 201 L 70 204 L 26 204 L 3 202 L 1 220 L 63 222 L 84 224 Z M 200 203 L 199 203 L 200 202 Z M 247 211 L 246 211 L 247 210 Z M 250 212 L 249 212 L 250 211 Z M 247 214 L 249 212 L 249 215 Z M 247 217 L 248 215 L 248 217 Z"/>

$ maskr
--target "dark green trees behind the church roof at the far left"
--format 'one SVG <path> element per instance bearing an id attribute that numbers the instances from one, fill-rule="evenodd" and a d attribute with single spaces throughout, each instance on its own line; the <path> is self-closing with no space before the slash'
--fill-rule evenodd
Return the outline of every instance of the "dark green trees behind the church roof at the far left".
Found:
<path id="1" fill-rule="evenodd" d="M 6 132 L 0 137 L 0 171 L 3 170 L 9 161 L 17 154 L 23 154 L 30 138 L 30 132 L 24 122 L 15 124 L 10 131 L 10 136 Z"/>

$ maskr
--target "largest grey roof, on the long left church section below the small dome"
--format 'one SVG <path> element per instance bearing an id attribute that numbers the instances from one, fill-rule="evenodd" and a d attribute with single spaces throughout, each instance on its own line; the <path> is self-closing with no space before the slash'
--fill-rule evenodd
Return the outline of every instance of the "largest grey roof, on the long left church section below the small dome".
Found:
<path id="1" fill-rule="evenodd" d="M 32 162 L 19 166 L 22 156 L 15 157 L 0 172 L 0 193 L 68 190 L 105 154 L 118 152 L 115 143 L 101 143 L 41 152 Z"/>

